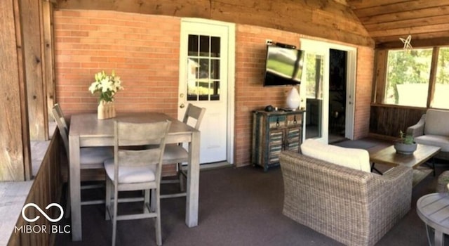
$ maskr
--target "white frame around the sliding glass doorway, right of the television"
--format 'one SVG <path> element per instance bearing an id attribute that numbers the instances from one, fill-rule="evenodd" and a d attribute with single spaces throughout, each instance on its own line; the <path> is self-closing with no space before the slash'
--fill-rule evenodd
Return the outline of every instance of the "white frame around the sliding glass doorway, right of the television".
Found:
<path id="1" fill-rule="evenodd" d="M 357 65 L 357 48 L 354 46 L 346 46 L 343 44 L 335 44 L 326 41 L 317 41 L 313 39 L 300 39 L 301 49 L 307 52 L 304 46 L 314 47 L 314 50 L 321 50 L 323 53 L 326 53 L 326 61 L 325 61 L 325 72 L 328 73 L 329 69 L 329 50 L 331 48 L 337 49 L 340 51 L 347 52 L 347 77 L 346 77 L 346 105 L 345 105 L 345 118 L 344 118 L 344 137 L 349 139 L 354 139 L 354 122 L 355 122 L 355 92 L 356 92 L 356 65 Z M 319 48 L 316 48 L 319 47 Z M 304 98 L 305 99 L 305 98 Z M 305 100 L 304 100 L 305 101 Z M 326 115 L 322 115 L 322 119 L 328 118 L 328 110 L 329 110 L 329 78 L 328 76 L 324 76 L 323 81 L 323 110 L 322 113 Z M 324 108 L 326 107 L 326 108 Z M 328 121 L 328 120 L 327 120 Z M 327 129 L 328 132 L 328 123 L 326 122 L 324 129 Z M 304 131 L 305 134 L 305 131 Z M 304 138 L 305 135 L 303 134 Z M 329 136 L 323 136 L 326 139 L 326 143 L 329 141 Z M 324 141 L 325 139 L 323 139 Z"/>

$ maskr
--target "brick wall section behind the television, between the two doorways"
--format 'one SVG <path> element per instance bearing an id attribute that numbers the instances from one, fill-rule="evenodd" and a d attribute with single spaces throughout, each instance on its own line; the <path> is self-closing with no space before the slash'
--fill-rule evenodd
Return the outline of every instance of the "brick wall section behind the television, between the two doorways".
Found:
<path id="1" fill-rule="evenodd" d="M 266 39 L 283 44 L 300 45 L 300 34 L 250 25 L 236 26 L 236 165 L 250 164 L 253 110 L 266 105 L 285 107 L 291 86 L 263 87 Z"/>

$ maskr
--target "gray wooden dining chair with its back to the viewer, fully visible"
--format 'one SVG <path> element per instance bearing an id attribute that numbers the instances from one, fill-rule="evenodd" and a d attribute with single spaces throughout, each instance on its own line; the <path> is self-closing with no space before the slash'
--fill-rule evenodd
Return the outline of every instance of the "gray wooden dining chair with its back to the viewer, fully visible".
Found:
<path id="1" fill-rule="evenodd" d="M 156 244 L 162 245 L 159 187 L 170 124 L 168 120 L 153 123 L 114 122 L 114 158 L 105 161 L 106 219 L 112 219 L 113 246 L 116 244 L 117 221 L 145 218 L 155 218 Z M 152 147 L 145 148 L 148 145 Z M 119 191 L 130 190 L 144 190 L 143 212 L 117 215 Z M 134 201 L 130 199 L 130 202 Z M 120 202 L 126 202 L 126 199 L 121 198 Z"/>

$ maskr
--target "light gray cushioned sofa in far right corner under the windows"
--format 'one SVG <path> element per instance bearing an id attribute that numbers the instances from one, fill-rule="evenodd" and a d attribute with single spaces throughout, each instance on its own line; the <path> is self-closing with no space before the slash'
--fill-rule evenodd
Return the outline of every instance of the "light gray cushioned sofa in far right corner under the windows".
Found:
<path id="1" fill-rule="evenodd" d="M 408 127 L 407 134 L 412 135 L 416 143 L 440 147 L 436 157 L 449 160 L 448 122 L 449 110 L 429 109 L 419 122 Z"/>

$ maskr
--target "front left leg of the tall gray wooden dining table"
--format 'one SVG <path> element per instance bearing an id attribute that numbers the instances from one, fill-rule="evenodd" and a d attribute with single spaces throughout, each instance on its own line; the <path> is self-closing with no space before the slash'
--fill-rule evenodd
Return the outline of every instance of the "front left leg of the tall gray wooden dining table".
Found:
<path id="1" fill-rule="evenodd" d="M 72 211 L 72 241 L 81 241 L 81 181 L 79 136 L 69 136 L 69 189 Z"/>

